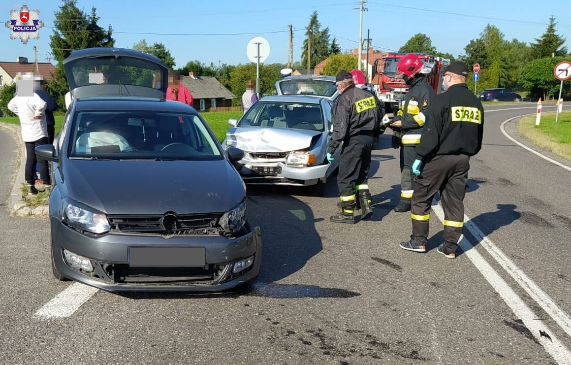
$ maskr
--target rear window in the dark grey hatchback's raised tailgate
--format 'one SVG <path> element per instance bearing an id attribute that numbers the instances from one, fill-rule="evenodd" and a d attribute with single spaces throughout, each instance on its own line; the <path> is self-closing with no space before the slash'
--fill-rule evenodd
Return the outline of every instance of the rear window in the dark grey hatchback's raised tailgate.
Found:
<path id="1" fill-rule="evenodd" d="M 80 58 L 67 67 L 75 86 L 121 84 L 159 89 L 164 72 L 156 63 L 132 57 Z"/>

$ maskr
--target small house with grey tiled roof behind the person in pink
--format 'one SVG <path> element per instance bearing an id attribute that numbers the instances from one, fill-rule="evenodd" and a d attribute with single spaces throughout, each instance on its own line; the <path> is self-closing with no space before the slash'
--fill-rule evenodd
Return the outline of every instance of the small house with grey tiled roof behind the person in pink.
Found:
<path id="1" fill-rule="evenodd" d="M 198 111 L 231 107 L 232 99 L 236 98 L 236 95 L 226 89 L 215 77 L 197 77 L 190 72 L 188 76 L 181 77 L 180 82 L 190 90 L 194 99 L 192 106 Z"/>

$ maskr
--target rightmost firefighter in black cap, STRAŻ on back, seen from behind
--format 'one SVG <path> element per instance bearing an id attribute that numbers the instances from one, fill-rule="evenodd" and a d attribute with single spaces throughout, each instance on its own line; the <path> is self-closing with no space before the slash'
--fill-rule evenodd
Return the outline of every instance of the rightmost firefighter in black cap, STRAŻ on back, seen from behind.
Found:
<path id="1" fill-rule="evenodd" d="M 466 86 L 468 66 L 452 62 L 444 73 L 447 91 L 436 96 L 416 147 L 412 171 L 412 235 L 401 248 L 425 252 L 432 199 L 440 191 L 444 210 L 444 243 L 437 251 L 456 257 L 458 239 L 464 225 L 464 193 L 470 157 L 482 147 L 484 108 Z"/>

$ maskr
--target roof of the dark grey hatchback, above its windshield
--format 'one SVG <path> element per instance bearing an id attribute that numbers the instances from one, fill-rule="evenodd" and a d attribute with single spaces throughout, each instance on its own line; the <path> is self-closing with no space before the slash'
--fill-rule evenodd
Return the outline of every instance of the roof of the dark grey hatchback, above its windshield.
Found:
<path id="1" fill-rule="evenodd" d="M 194 107 L 178 101 L 144 97 L 86 97 L 75 99 L 75 111 L 137 110 L 198 114 Z"/>

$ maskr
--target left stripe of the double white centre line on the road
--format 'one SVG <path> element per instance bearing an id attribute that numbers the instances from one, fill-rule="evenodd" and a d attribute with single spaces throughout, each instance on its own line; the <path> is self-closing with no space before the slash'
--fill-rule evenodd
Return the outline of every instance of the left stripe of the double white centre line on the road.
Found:
<path id="1" fill-rule="evenodd" d="M 436 203 L 436 200 L 433 201 L 432 210 L 436 213 L 436 216 L 438 216 L 440 221 L 443 222 L 444 211 L 442 207 Z M 465 222 L 469 222 L 469 218 L 467 216 L 464 216 L 464 220 Z M 482 255 L 480 255 L 480 253 L 475 249 L 472 243 L 470 243 L 469 240 L 465 238 L 464 235 L 460 236 L 459 246 L 462 248 L 462 250 L 464 250 L 464 254 L 472 261 L 482 276 L 484 276 L 484 278 L 488 281 L 488 283 L 490 283 L 490 285 L 501 296 L 501 298 L 504 299 L 504 302 L 508 304 L 508 306 L 513 311 L 513 314 L 515 314 L 519 319 L 522 320 L 522 322 L 524 322 L 525 327 L 527 327 L 529 331 L 532 332 L 533 336 L 538 340 L 538 342 L 542 344 L 547 352 L 549 352 L 549 355 L 551 355 L 558 364 L 571 364 L 571 352 L 569 352 L 569 350 L 556 338 L 554 334 L 547 331 L 546 326 L 544 326 L 542 322 L 534 320 L 534 318 L 537 318 L 537 315 L 529 309 L 524 301 L 521 300 L 521 298 L 516 294 L 516 292 L 513 291 L 508 283 L 506 283 L 505 280 L 502 279 L 500 275 L 498 275 L 496 270 L 490 266 L 490 264 L 482 257 Z M 497 249 L 497 251 L 500 250 Z M 494 256 L 494 258 L 496 257 Z M 500 264 L 502 265 L 501 262 Z M 502 267 L 504 266 L 502 265 Z M 504 269 L 506 269 L 506 267 L 504 267 Z M 506 271 L 509 272 L 508 269 L 506 269 Z M 546 331 L 551 337 L 552 341 L 542 337 L 540 335 L 540 331 Z"/>

